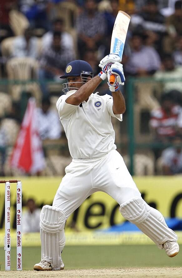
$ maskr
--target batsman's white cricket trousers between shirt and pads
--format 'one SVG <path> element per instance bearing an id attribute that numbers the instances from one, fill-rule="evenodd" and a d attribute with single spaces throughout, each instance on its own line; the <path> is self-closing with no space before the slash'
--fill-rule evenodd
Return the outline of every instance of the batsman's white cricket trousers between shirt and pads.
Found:
<path id="1" fill-rule="evenodd" d="M 54 197 L 53 207 L 62 210 L 66 219 L 96 191 L 109 194 L 119 205 L 141 197 L 122 156 L 116 150 L 111 150 L 101 158 L 73 159 L 65 172 Z"/>

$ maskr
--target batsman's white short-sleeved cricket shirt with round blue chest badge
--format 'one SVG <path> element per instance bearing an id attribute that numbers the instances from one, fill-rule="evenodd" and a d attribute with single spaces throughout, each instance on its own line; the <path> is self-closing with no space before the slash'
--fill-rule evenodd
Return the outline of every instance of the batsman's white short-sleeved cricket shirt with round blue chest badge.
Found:
<path id="1" fill-rule="evenodd" d="M 114 115 L 113 97 L 92 93 L 81 105 L 66 103 L 65 100 L 75 92 L 62 95 L 56 103 L 70 155 L 74 159 L 97 158 L 116 149 L 111 116 L 122 121 L 122 114 Z"/>

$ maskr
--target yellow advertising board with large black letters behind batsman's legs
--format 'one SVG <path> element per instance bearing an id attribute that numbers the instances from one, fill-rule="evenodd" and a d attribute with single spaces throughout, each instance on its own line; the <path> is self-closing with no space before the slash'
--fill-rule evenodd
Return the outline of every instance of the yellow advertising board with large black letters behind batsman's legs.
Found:
<path id="1" fill-rule="evenodd" d="M 4 178 L 3 178 L 4 179 Z M 52 205 L 53 197 L 61 177 L 23 177 L 23 210 L 28 198 L 34 198 L 38 207 Z M 142 197 L 152 207 L 157 208 L 164 217 L 182 218 L 182 176 L 134 177 Z M 11 184 L 11 225 L 16 224 L 16 185 Z M 79 231 L 108 228 L 119 224 L 124 218 L 119 212 L 119 205 L 109 195 L 96 192 L 70 216 L 66 230 L 71 230 L 71 223 L 76 223 Z M 0 229 L 4 228 L 4 185 L 0 186 Z"/>

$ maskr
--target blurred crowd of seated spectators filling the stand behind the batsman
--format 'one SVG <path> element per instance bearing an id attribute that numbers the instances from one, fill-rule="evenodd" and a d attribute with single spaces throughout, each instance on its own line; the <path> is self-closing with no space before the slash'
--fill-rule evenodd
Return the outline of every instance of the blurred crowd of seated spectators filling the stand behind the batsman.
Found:
<path id="1" fill-rule="evenodd" d="M 130 77 L 137 78 L 134 113 L 141 123 L 136 124 L 136 141 L 141 139 L 147 143 L 152 139 L 158 144 L 150 148 L 157 165 L 153 174 L 182 173 L 182 1 L 175 0 L 1 0 L 0 106 L 1 102 L 11 102 L 7 108 L 2 104 L 4 112 L 0 111 L 1 165 L 6 163 L 5 146 L 7 142 L 12 143 L 3 122 L 11 119 L 17 125 L 21 123 L 24 94 L 33 95 L 37 100 L 42 140 L 64 138 L 55 111 L 55 102 L 63 93 L 59 76 L 75 59 L 87 61 L 94 75 L 99 72 L 99 61 L 110 53 L 119 10 L 131 16 L 122 59 L 126 82 L 121 89 L 128 102 L 127 82 Z M 147 81 L 148 77 L 153 81 Z M 146 82 L 139 82 L 141 78 Z M 1 79 L 32 79 L 32 82 L 5 88 Z M 157 88 L 156 84 L 159 84 Z M 98 90 L 99 94 L 110 94 L 104 81 Z M 146 110 L 148 121 L 143 113 Z M 122 145 L 127 127 L 118 125 L 114 123 L 116 143 Z M 148 139 L 142 137 L 147 132 Z M 142 155 L 145 153 L 144 150 Z M 1 167 L 0 175 L 3 174 L 6 173 Z"/>

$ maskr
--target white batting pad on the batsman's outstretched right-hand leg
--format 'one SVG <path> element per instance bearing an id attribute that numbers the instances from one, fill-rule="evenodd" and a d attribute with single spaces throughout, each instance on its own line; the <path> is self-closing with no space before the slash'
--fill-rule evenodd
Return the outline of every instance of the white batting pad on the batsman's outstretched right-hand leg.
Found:
<path id="1" fill-rule="evenodd" d="M 121 204 L 119 210 L 124 218 L 134 223 L 160 249 L 167 240 L 177 241 L 177 235 L 168 228 L 162 214 L 150 207 L 142 198 L 137 197 Z"/>

